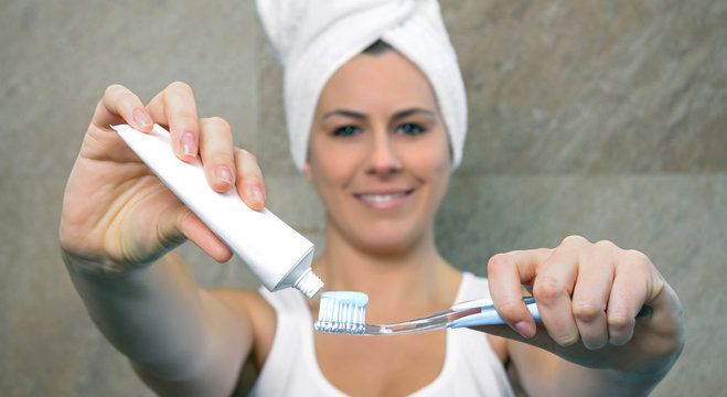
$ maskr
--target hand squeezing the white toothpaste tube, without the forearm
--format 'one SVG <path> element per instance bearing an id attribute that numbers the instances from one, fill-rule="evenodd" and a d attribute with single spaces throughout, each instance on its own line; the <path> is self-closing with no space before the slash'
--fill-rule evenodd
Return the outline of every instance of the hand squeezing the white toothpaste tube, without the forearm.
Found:
<path id="1" fill-rule="evenodd" d="M 255 157 L 234 148 L 224 119 L 197 117 L 189 85 L 170 84 L 147 107 L 126 87 L 111 85 L 96 107 L 66 184 L 60 227 L 64 255 L 133 269 L 189 238 L 215 260 L 231 258 L 231 250 L 110 128 L 129 124 L 149 132 L 153 122 L 168 127 L 180 160 L 201 155 L 212 189 L 236 187 L 249 207 L 265 206 Z"/>

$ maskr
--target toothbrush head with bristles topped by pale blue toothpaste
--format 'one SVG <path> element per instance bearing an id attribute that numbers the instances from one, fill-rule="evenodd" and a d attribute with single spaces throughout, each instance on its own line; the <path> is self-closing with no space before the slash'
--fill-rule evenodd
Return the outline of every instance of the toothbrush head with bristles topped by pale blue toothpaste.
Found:
<path id="1" fill-rule="evenodd" d="M 366 330 L 366 303 L 368 296 L 363 292 L 323 292 L 313 326 L 320 332 L 361 335 Z"/>

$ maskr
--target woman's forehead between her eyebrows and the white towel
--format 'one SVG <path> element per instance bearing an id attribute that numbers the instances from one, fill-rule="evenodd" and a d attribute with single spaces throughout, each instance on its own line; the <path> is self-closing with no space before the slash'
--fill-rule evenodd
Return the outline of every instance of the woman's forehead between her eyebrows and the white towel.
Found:
<path id="1" fill-rule="evenodd" d="M 424 73 L 396 51 L 351 58 L 331 76 L 318 104 L 319 110 L 351 107 L 374 111 L 413 106 L 435 111 L 437 101 Z"/>

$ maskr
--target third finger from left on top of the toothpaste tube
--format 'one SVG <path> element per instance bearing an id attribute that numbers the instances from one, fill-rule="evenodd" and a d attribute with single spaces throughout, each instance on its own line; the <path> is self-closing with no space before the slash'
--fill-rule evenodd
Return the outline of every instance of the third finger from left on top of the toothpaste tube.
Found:
<path id="1" fill-rule="evenodd" d="M 226 192 L 235 185 L 232 130 L 220 117 L 200 120 L 200 154 L 212 189 Z"/>

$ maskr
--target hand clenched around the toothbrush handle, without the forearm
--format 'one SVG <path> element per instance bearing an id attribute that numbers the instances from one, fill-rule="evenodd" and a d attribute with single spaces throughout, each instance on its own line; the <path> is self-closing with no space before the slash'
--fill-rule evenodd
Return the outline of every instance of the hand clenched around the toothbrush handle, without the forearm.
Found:
<path id="1" fill-rule="evenodd" d="M 567 237 L 554 249 L 500 254 L 488 265 L 490 292 L 506 326 L 481 331 L 542 347 L 591 368 L 667 371 L 684 345 L 682 304 L 651 260 L 610 242 Z M 542 323 L 522 301 L 537 301 Z M 637 319 L 642 305 L 650 318 Z"/>

